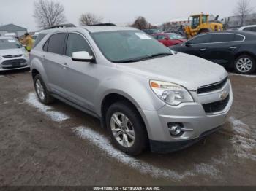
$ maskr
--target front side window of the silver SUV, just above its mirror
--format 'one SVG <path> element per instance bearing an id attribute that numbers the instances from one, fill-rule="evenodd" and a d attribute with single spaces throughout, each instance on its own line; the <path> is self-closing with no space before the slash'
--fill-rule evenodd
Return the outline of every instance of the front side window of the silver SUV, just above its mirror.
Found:
<path id="1" fill-rule="evenodd" d="M 69 34 L 66 55 L 71 57 L 73 52 L 86 51 L 92 55 L 91 47 L 80 34 Z"/>

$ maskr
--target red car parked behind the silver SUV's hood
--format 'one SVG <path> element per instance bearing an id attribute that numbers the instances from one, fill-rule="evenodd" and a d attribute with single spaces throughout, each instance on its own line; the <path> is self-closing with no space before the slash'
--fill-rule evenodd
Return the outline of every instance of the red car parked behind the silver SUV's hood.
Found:
<path id="1" fill-rule="evenodd" d="M 186 42 L 187 39 L 183 39 L 181 36 L 175 33 L 159 33 L 159 34 L 152 34 L 152 36 L 157 39 L 159 42 L 164 44 L 166 47 L 171 47 L 173 45 L 181 44 Z"/>

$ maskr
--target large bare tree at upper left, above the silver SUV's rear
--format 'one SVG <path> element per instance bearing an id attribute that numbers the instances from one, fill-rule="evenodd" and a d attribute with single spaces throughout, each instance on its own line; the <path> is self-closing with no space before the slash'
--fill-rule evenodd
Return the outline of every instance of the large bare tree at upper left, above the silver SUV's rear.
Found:
<path id="1" fill-rule="evenodd" d="M 64 6 L 56 1 L 35 1 L 33 16 L 39 28 L 59 25 L 66 21 L 66 17 L 64 15 Z"/>

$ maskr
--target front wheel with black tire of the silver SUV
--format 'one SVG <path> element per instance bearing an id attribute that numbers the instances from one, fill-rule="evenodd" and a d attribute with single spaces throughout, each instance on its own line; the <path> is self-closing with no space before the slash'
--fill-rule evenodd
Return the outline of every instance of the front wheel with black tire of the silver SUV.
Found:
<path id="1" fill-rule="evenodd" d="M 116 120 L 113 120 L 116 117 L 119 120 L 118 122 L 127 122 L 127 125 L 118 126 Z M 124 120 L 125 117 L 127 117 L 127 120 Z M 135 156 L 140 155 L 146 149 L 148 136 L 145 125 L 138 111 L 128 101 L 119 101 L 112 104 L 106 114 L 106 123 L 113 144 L 122 152 Z M 118 131 L 118 129 L 120 130 Z M 114 136 L 114 132 L 116 133 L 116 137 Z M 134 140 L 132 140 L 132 134 L 134 134 Z M 124 139 L 125 137 L 127 139 Z M 121 141 L 122 138 L 123 141 Z"/>

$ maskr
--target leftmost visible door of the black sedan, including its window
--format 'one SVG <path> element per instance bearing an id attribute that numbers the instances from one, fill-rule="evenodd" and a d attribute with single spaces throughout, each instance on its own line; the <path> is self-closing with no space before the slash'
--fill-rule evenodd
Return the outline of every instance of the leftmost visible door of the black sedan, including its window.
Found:
<path id="1" fill-rule="evenodd" d="M 184 53 L 208 59 L 208 44 L 211 42 L 211 34 L 202 34 L 184 43 Z M 185 45 L 187 44 L 187 46 Z"/>

